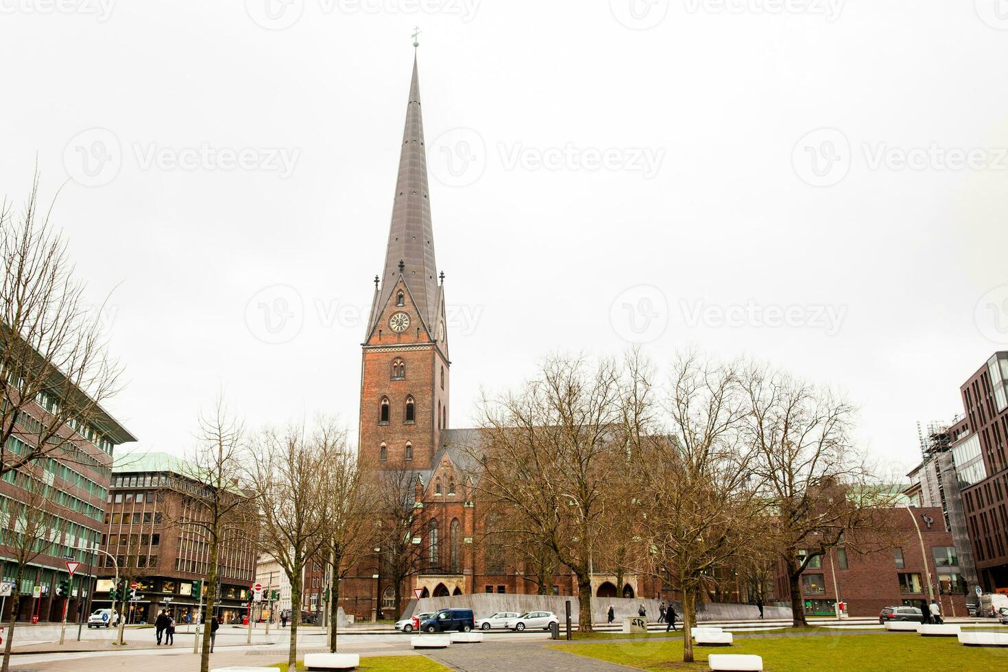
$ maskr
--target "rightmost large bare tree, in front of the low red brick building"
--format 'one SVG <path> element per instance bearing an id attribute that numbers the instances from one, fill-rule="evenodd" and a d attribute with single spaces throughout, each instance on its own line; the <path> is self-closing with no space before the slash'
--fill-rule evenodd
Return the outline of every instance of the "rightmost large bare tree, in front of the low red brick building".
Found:
<path id="1" fill-rule="evenodd" d="M 855 409 L 831 390 L 765 366 L 750 366 L 743 386 L 754 472 L 772 503 L 778 556 L 787 569 L 792 623 L 806 624 L 801 572 L 831 548 L 878 539 L 880 508 L 892 495 L 879 488 L 851 440 Z M 875 535 L 859 535 L 874 531 Z"/>

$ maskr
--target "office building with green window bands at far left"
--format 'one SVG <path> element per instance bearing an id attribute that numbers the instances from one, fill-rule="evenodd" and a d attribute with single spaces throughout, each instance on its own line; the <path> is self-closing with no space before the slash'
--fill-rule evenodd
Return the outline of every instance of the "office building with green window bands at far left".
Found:
<path id="1" fill-rule="evenodd" d="M 16 394 L 12 391 L 16 387 L 5 388 L 4 395 Z M 0 479 L 3 580 L 15 582 L 17 558 L 28 559 L 18 586 L 20 597 L 16 603 L 3 600 L 4 621 L 11 611 L 18 621 L 35 618 L 40 622 L 61 620 L 65 608 L 70 622 L 84 612 L 91 583 L 88 566 L 95 563 L 95 553 L 89 551 L 98 546 L 102 535 L 112 453 L 117 445 L 136 440 L 66 379 L 57 377 L 51 390 L 52 394 L 39 393 L 17 413 L 3 457 L 5 466 L 16 465 L 38 445 L 40 436 L 55 436 L 46 441 L 54 447 L 44 456 L 11 468 Z M 76 405 L 71 410 L 61 408 L 65 404 Z M 44 529 L 30 522 L 36 515 L 44 517 Z M 20 550 L 32 544 L 35 551 Z M 81 563 L 73 578 L 68 561 Z M 66 597 L 56 595 L 64 579 L 71 580 Z"/>

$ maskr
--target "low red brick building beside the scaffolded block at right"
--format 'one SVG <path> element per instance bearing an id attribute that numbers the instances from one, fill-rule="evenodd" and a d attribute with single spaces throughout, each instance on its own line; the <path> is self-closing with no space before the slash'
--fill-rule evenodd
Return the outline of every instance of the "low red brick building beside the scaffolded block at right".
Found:
<path id="1" fill-rule="evenodd" d="M 952 532 L 937 507 L 893 508 L 889 525 L 896 537 L 891 548 L 870 553 L 831 549 L 813 558 L 801 574 L 806 616 L 835 614 L 839 598 L 855 617 L 878 616 L 883 607 L 922 600 L 941 604 L 946 616 L 966 616 L 966 592 Z M 774 576 L 779 599 L 787 599 L 787 574 L 778 564 Z"/>

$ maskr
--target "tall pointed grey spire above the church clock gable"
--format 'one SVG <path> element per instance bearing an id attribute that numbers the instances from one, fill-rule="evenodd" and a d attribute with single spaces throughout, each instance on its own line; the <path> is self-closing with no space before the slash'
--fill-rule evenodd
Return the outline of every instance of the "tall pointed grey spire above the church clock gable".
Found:
<path id="1" fill-rule="evenodd" d="M 403 263 L 400 271 L 399 262 Z M 399 153 L 399 174 L 395 181 L 392 203 L 392 223 L 385 252 L 385 272 L 381 292 L 375 306 L 378 318 L 399 279 L 399 273 L 409 287 L 413 301 L 427 329 L 432 329 L 437 302 L 437 268 L 434 263 L 433 226 L 430 223 L 430 199 L 427 192 L 427 159 L 423 145 L 423 119 L 420 115 L 420 82 L 416 56 L 413 56 L 413 78 L 409 83 L 406 104 L 406 124 Z M 374 328 L 372 323 L 371 328 Z"/>

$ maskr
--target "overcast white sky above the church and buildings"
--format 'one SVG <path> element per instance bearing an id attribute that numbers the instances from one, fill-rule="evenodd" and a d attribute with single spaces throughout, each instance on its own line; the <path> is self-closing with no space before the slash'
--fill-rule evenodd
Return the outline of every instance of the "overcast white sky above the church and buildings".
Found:
<path id="1" fill-rule="evenodd" d="M 70 178 L 140 446 L 221 387 L 356 435 L 419 25 L 452 425 L 647 341 L 834 384 L 909 466 L 1008 347 L 997 1 L 0 0 L 0 190 Z"/>

